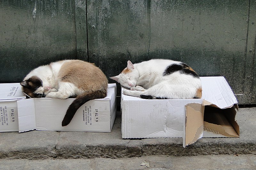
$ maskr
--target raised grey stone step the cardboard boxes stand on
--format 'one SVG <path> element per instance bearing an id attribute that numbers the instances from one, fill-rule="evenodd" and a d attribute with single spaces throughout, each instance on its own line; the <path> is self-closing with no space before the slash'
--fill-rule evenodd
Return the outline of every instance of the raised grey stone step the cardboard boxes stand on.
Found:
<path id="1" fill-rule="evenodd" d="M 240 108 L 236 120 L 240 125 L 240 138 L 202 138 L 183 148 L 182 138 L 122 139 L 118 112 L 111 133 L 37 130 L 0 133 L 0 160 L 33 159 L 40 162 L 40 159 L 256 154 L 256 107 Z"/>

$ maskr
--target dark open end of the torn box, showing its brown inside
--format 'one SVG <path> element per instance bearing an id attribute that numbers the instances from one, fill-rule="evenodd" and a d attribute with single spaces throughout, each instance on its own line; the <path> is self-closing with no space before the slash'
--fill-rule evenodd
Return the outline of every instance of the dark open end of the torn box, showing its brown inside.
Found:
<path id="1" fill-rule="evenodd" d="M 235 121 L 235 107 L 220 109 L 205 106 L 204 130 L 225 137 L 239 137 L 239 126 Z"/>

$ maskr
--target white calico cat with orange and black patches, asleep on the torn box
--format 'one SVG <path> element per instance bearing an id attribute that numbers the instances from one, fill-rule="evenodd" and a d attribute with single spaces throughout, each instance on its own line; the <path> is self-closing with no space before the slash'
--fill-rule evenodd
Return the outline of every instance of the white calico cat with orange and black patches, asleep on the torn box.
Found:
<path id="1" fill-rule="evenodd" d="M 115 77 L 125 95 L 143 99 L 198 99 L 202 97 L 201 80 L 188 65 L 172 60 L 153 59 L 127 67 Z"/>

